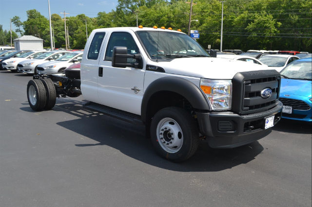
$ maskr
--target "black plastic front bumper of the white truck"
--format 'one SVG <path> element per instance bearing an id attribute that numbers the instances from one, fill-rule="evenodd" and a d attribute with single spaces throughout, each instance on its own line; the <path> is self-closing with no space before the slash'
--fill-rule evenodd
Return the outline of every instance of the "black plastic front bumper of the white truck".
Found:
<path id="1" fill-rule="evenodd" d="M 234 148 L 270 134 L 264 129 L 265 119 L 274 115 L 274 125 L 280 120 L 282 103 L 268 111 L 240 116 L 233 112 L 196 112 L 199 131 L 212 148 Z"/>

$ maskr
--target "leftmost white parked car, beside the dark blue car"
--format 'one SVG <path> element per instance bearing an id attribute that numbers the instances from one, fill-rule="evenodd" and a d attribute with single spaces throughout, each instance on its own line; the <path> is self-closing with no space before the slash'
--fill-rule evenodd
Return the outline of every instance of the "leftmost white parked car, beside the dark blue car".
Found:
<path id="1" fill-rule="evenodd" d="M 4 60 L 2 62 L 2 68 L 17 71 L 18 64 L 24 60 L 33 59 L 47 51 L 30 51 L 26 52 L 19 57 L 11 57 L 10 59 Z"/>

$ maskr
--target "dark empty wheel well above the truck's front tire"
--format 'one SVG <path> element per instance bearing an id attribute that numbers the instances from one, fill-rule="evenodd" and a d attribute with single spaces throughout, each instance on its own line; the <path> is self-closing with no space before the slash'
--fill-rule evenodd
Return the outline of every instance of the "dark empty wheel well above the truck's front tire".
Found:
<path id="1" fill-rule="evenodd" d="M 182 95 L 171 91 L 159 91 L 153 94 L 148 101 L 146 110 L 147 126 L 149 126 L 152 117 L 156 114 L 157 111 L 169 106 L 184 108 L 190 113 L 193 111 L 191 103 Z"/>

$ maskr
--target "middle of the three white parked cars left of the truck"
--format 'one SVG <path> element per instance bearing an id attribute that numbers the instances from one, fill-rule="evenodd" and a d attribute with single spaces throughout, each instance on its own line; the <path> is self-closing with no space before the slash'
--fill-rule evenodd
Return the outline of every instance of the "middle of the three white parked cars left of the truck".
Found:
<path id="1" fill-rule="evenodd" d="M 37 73 L 37 66 L 51 60 L 58 59 L 60 56 L 69 53 L 68 51 L 45 52 L 31 60 L 24 60 L 18 64 L 18 70 L 24 73 Z M 36 70 L 36 72 L 35 72 Z"/>

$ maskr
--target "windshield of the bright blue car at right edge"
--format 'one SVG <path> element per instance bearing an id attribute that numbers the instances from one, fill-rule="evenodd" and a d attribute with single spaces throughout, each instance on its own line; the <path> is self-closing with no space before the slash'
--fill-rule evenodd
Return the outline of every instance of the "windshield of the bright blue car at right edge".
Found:
<path id="1" fill-rule="evenodd" d="M 284 78 L 312 80 L 312 65 L 311 62 L 292 62 L 280 73 Z"/>

